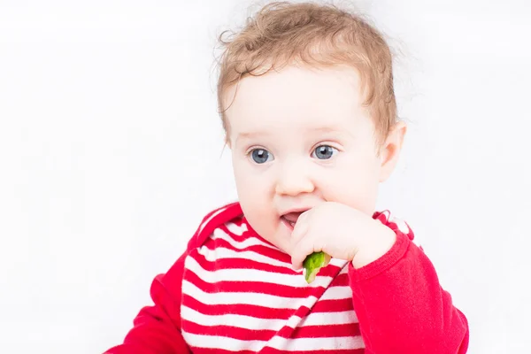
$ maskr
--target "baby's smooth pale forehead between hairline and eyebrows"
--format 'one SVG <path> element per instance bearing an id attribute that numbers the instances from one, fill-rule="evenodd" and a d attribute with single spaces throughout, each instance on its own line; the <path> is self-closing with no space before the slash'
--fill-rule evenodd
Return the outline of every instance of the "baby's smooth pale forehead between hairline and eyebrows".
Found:
<path id="1" fill-rule="evenodd" d="M 255 130 L 337 127 L 364 115 L 359 76 L 350 67 L 287 66 L 247 76 L 225 95 L 231 135 Z"/>

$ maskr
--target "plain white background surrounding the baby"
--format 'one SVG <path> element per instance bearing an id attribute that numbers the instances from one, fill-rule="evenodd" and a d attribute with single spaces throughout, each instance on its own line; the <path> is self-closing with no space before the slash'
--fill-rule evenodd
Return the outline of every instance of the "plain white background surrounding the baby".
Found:
<path id="1" fill-rule="evenodd" d="M 235 199 L 213 48 L 249 4 L 0 1 L 0 352 L 119 343 Z M 359 4 L 402 53 L 410 125 L 379 206 L 418 235 L 469 352 L 529 352 L 531 4 Z"/>

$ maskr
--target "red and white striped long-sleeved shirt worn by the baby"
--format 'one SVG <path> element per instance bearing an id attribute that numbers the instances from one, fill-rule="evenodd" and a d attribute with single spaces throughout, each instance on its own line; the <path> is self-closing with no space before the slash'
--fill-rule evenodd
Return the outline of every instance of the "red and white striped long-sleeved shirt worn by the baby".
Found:
<path id="1" fill-rule="evenodd" d="M 465 353 L 466 318 L 411 229 L 389 212 L 374 218 L 397 235 L 386 255 L 358 270 L 332 259 L 307 284 L 239 204 L 211 212 L 107 353 Z"/>

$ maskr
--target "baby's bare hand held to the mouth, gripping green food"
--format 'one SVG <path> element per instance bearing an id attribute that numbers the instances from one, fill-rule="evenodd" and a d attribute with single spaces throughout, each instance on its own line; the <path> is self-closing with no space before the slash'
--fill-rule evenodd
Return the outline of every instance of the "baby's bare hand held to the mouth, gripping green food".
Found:
<path id="1" fill-rule="evenodd" d="M 301 214 L 291 240 L 291 262 L 296 270 L 303 267 L 306 256 L 319 251 L 360 268 L 390 250 L 396 235 L 348 205 L 325 202 Z"/>

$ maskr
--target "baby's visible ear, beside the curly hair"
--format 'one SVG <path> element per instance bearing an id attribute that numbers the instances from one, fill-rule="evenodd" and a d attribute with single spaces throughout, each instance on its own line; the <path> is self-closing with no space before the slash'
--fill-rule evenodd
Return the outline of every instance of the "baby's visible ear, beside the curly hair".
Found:
<path id="1" fill-rule="evenodd" d="M 381 169 L 380 181 L 386 181 L 395 170 L 396 163 L 400 157 L 404 136 L 407 126 L 403 121 L 399 121 L 389 132 L 389 135 L 380 150 Z"/>

